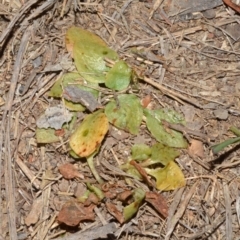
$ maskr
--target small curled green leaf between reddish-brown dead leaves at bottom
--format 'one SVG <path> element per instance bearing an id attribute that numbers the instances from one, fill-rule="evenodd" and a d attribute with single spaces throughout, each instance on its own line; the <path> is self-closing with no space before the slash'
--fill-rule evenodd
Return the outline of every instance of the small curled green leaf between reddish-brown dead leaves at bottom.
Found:
<path id="1" fill-rule="evenodd" d="M 145 198 L 145 192 L 141 188 L 136 188 L 133 192 L 134 202 L 126 206 L 123 209 L 124 221 L 128 221 L 138 211 L 143 199 Z"/>

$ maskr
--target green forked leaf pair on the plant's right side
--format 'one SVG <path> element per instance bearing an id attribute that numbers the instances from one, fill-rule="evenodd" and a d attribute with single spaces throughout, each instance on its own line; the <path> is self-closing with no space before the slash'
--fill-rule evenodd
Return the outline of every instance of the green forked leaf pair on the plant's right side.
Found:
<path id="1" fill-rule="evenodd" d="M 184 119 L 173 110 L 148 110 L 144 109 L 146 116 L 147 128 L 157 139 L 164 145 L 176 148 L 187 148 L 188 144 L 180 132 L 172 129 L 165 130 L 161 123 L 161 120 L 168 121 L 170 123 L 184 123 Z"/>

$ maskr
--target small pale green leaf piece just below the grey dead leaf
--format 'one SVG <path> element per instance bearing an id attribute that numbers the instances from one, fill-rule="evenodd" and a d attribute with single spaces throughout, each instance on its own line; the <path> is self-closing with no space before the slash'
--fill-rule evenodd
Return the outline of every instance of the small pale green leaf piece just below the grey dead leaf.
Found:
<path id="1" fill-rule="evenodd" d="M 56 130 L 52 128 L 37 128 L 36 139 L 37 143 L 54 143 L 59 142 L 60 139 L 55 135 Z"/>

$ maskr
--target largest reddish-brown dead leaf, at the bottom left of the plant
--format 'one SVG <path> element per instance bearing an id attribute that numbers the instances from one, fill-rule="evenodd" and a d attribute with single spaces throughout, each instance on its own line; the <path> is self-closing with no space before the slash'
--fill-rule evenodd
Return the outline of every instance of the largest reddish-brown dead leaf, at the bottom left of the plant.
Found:
<path id="1" fill-rule="evenodd" d="M 80 222 L 85 220 L 94 220 L 94 209 L 95 205 L 85 207 L 82 203 L 78 202 L 67 202 L 63 205 L 61 211 L 58 214 L 57 220 L 60 223 L 64 223 L 67 226 L 77 226 Z"/>

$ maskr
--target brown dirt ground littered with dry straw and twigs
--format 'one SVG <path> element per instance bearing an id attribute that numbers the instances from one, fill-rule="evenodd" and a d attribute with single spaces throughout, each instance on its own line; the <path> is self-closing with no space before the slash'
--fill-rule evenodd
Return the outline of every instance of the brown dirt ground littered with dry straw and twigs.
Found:
<path id="1" fill-rule="evenodd" d="M 210 148 L 235 136 L 230 126 L 240 126 L 240 17 L 221 4 L 209 18 L 199 13 L 178 21 L 178 13 L 170 16 L 173 1 L 163 1 L 152 12 L 155 2 L 161 3 L 0 2 L 0 239 L 240 239 L 239 145 L 218 155 Z M 87 163 L 67 154 L 67 139 L 47 145 L 35 139 L 36 119 L 57 103 L 48 90 L 73 66 L 64 39 L 72 25 L 101 36 L 144 76 L 138 91 L 130 91 L 141 99 L 151 96 L 152 108 L 183 113 L 187 128 L 180 131 L 199 140 L 176 159 L 186 187 L 162 193 L 169 207 L 167 218 L 145 202 L 131 221 L 120 225 L 106 202 L 95 203 L 93 196 L 87 207 L 66 206 L 86 215 L 78 227 L 57 221 L 62 206 L 81 196 L 86 182 L 97 184 Z M 144 54 L 134 54 L 133 47 Z M 129 185 L 118 166 L 134 143 L 154 142 L 144 126 L 138 136 L 108 133 L 95 165 L 109 184 L 106 189 L 112 189 L 112 203 L 117 204 L 114 191 L 119 189 L 126 194 L 136 186 L 149 189 L 146 182 Z M 76 179 L 60 174 L 58 167 L 66 163 L 81 172 Z"/>

